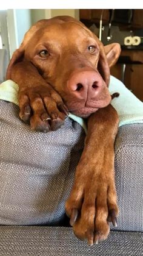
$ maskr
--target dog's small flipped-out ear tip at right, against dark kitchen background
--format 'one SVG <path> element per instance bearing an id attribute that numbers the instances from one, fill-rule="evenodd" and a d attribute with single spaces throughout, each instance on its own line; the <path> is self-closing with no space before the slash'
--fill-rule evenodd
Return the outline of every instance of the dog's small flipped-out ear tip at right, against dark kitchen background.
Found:
<path id="1" fill-rule="evenodd" d="M 117 62 L 121 54 L 121 46 L 119 43 L 111 43 L 104 46 L 105 54 L 107 57 L 108 65 L 111 67 Z"/>

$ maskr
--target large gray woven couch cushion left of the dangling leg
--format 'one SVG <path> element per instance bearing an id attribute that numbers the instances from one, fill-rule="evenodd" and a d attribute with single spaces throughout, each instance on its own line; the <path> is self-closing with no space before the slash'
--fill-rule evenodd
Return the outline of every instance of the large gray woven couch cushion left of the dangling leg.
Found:
<path id="1" fill-rule="evenodd" d="M 34 132 L 18 113 L 16 105 L 0 101 L 0 224 L 57 224 L 85 133 L 70 118 L 56 132 Z"/>

